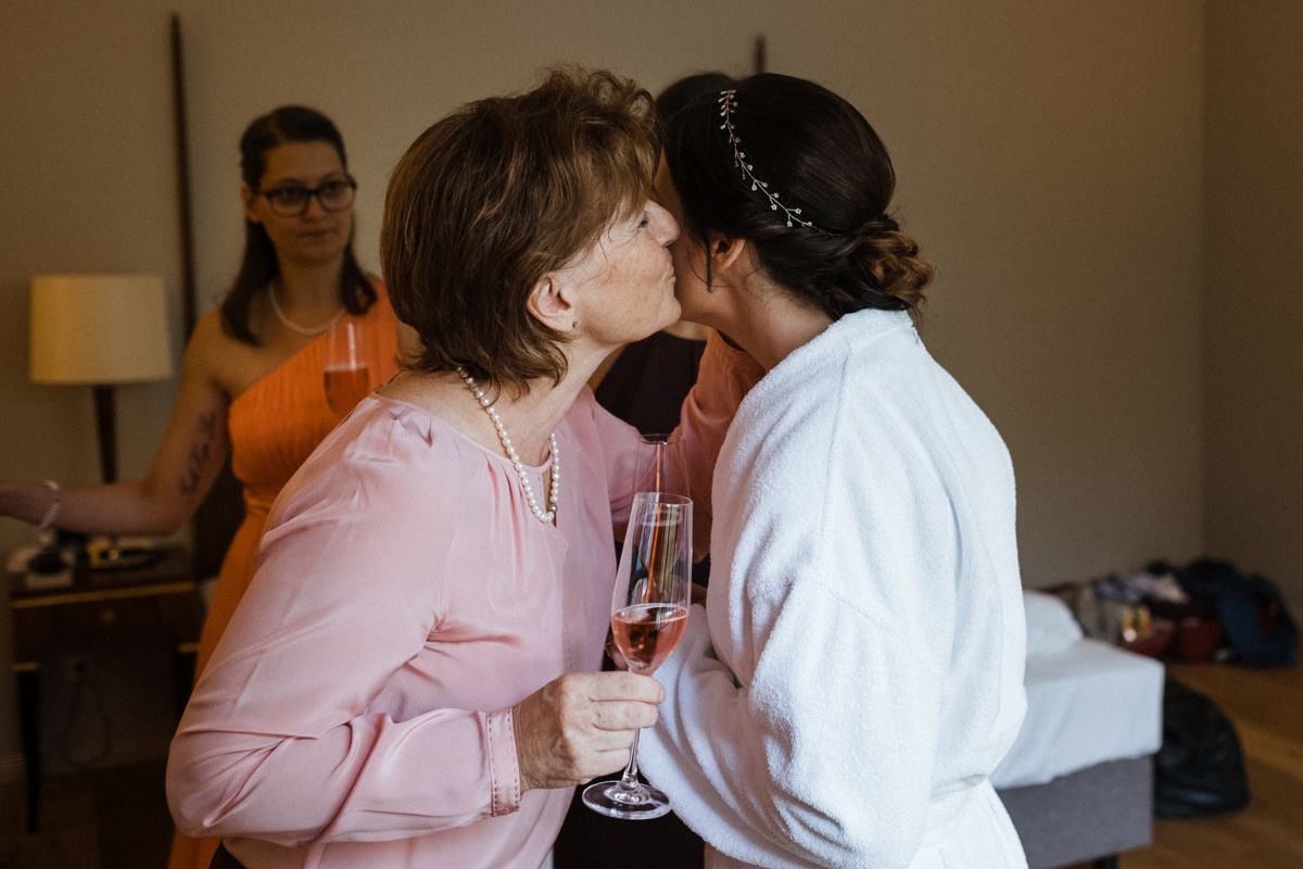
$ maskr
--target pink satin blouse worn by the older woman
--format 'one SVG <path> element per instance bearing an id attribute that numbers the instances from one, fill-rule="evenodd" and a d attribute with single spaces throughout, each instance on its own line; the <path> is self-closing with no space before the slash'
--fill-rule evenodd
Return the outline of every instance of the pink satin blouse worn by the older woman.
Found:
<path id="1" fill-rule="evenodd" d="M 698 506 L 758 375 L 711 340 L 681 423 Z M 572 791 L 521 795 L 511 707 L 599 666 L 637 439 L 581 393 L 552 526 L 504 456 L 364 400 L 278 499 L 195 685 L 168 761 L 181 830 L 259 868 L 537 869 Z"/>

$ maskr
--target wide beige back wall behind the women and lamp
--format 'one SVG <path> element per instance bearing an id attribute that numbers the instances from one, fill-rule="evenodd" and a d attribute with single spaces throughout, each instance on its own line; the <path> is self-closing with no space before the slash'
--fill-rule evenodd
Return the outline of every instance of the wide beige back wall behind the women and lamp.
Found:
<path id="1" fill-rule="evenodd" d="M 152 271 L 176 291 L 172 9 L 210 300 L 236 267 L 236 141 L 257 113 L 335 117 L 374 264 L 388 168 L 457 103 L 562 60 L 653 90 L 741 73 L 765 33 L 771 69 L 846 94 L 895 156 L 938 266 L 925 339 L 1014 455 L 1025 582 L 1200 550 L 1203 7 L 1187 0 L 4 4 L 0 478 L 98 474 L 89 395 L 26 380 L 30 276 Z M 121 390 L 125 474 L 147 469 L 172 395 Z M 0 550 L 30 539 L 0 520 Z"/>

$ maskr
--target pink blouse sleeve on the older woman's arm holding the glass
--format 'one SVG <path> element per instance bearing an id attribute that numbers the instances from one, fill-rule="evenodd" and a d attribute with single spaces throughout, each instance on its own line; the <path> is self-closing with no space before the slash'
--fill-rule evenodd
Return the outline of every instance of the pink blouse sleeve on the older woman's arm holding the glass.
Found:
<path id="1" fill-rule="evenodd" d="M 401 461 L 373 465 L 319 473 L 278 506 L 172 743 L 186 834 L 384 840 L 519 808 L 509 707 L 369 709 L 438 623 L 461 519 Z"/>

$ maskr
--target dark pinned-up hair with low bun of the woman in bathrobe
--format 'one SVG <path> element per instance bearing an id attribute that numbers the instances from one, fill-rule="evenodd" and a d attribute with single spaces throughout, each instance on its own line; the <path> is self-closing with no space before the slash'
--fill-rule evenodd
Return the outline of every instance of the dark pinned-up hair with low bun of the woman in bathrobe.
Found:
<path id="1" fill-rule="evenodd" d="M 886 214 L 895 171 L 864 116 L 826 87 L 791 76 L 727 85 L 735 94 L 730 133 L 769 197 L 736 171 L 735 139 L 721 133 L 719 91 L 709 83 L 710 93 L 665 117 L 684 231 L 702 242 L 710 233 L 747 238 L 775 281 L 834 319 L 866 307 L 917 311 L 932 266 Z M 800 208 L 801 219 L 788 207 Z"/>

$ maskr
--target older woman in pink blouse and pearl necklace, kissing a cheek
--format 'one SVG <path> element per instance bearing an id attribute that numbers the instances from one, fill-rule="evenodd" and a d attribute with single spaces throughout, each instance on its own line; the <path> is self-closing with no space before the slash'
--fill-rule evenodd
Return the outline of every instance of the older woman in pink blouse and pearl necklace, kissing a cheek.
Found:
<path id="1" fill-rule="evenodd" d="M 585 382 L 679 317 L 655 159 L 648 94 L 568 69 L 399 162 L 382 258 L 422 353 L 281 492 L 172 744 L 177 825 L 225 865 L 537 869 L 654 722 L 654 680 L 594 672 L 637 434 Z M 757 377 L 711 341 L 700 504 Z"/>

